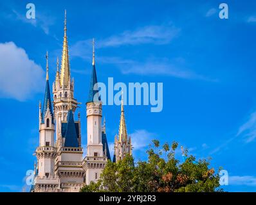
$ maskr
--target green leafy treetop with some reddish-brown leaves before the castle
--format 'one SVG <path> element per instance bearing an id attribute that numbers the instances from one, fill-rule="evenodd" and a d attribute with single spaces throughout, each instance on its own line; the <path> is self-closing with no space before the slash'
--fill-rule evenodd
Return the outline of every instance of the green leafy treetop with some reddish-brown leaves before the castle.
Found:
<path id="1" fill-rule="evenodd" d="M 192 155 L 180 162 L 175 158 L 177 142 L 163 144 L 152 141 L 147 161 L 134 164 L 132 156 L 107 162 L 100 179 L 84 186 L 80 192 L 221 192 L 219 174 L 209 168 L 210 160 Z M 162 156 L 164 152 L 164 156 Z"/>

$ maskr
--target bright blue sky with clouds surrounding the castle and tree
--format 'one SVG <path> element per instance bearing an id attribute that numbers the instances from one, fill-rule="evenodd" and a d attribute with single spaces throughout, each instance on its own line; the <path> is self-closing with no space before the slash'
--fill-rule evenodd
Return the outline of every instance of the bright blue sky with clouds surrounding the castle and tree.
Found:
<path id="1" fill-rule="evenodd" d="M 226 191 L 255 192 L 256 2 L 225 1 L 25 1 L 0 3 L 0 191 L 20 192 L 33 169 L 39 140 L 38 104 L 43 99 L 45 53 L 50 83 L 61 57 L 64 9 L 75 97 L 85 102 L 96 39 L 98 81 L 162 82 L 163 111 L 125 106 L 136 159 L 145 159 L 153 138 L 177 141 L 212 167 L 228 170 Z M 120 107 L 104 106 L 107 138 L 118 133 Z M 177 152 L 180 156 L 180 150 Z"/>

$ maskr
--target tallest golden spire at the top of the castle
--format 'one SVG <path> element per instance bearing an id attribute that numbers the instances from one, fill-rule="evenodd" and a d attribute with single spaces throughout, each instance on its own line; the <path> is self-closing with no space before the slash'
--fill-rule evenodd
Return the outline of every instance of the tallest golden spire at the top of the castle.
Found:
<path id="1" fill-rule="evenodd" d="M 69 56 L 68 56 L 68 37 L 67 37 L 67 12 L 65 10 L 64 40 L 63 40 L 61 69 L 60 69 L 60 85 L 68 86 L 69 78 L 70 78 L 70 71 L 69 71 Z"/>

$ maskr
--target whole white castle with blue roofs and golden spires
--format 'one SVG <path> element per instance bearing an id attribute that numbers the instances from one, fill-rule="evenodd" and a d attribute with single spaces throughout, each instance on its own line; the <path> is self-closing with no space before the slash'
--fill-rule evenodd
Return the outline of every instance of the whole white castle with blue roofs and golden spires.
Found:
<path id="1" fill-rule="evenodd" d="M 79 102 L 75 99 L 75 83 L 69 69 L 66 11 L 61 67 L 57 60 L 57 72 L 53 83 L 53 107 L 46 54 L 46 86 L 44 103 L 39 102 L 39 146 L 35 151 L 34 184 L 31 192 L 79 192 L 91 181 L 97 181 L 102 170 L 111 160 L 105 120 L 102 124 L 102 102 L 96 86 L 95 48 L 93 41 L 93 63 L 89 97 L 86 102 L 87 153 L 81 145 L 80 113 L 75 121 L 74 114 Z M 95 89 L 96 88 L 96 89 Z M 123 101 L 118 136 L 114 138 L 113 161 L 132 154 L 131 137 L 127 135 Z"/>

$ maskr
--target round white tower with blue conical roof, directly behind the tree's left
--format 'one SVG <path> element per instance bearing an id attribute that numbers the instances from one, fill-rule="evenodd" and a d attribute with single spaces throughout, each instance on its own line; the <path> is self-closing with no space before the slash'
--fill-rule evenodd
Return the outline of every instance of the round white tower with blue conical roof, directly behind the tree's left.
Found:
<path id="1" fill-rule="evenodd" d="M 93 63 L 89 97 L 86 102 L 87 116 L 87 155 L 86 155 L 86 184 L 96 181 L 107 163 L 102 144 L 102 102 L 98 94 L 97 76 L 95 69 L 95 42 L 93 40 Z"/>

